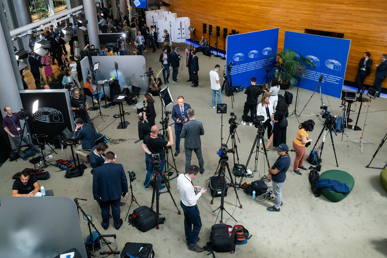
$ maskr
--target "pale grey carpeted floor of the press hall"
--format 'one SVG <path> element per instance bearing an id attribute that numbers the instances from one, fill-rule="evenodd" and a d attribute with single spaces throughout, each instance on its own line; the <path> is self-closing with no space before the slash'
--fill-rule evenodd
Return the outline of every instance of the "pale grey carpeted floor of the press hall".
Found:
<path id="1" fill-rule="evenodd" d="M 181 44 L 183 48 L 185 45 Z M 161 53 L 158 50 L 156 53 L 147 51 L 145 53 L 147 67 L 152 67 L 153 70 L 159 70 L 158 57 Z M 182 54 L 182 56 L 185 56 Z M 171 84 L 168 85 L 174 101 L 177 101 L 177 96 L 184 95 L 187 103 L 196 112 L 197 120 L 203 122 L 205 135 L 202 137 L 202 150 L 204 156 L 205 172 L 200 175 L 195 181 L 196 185 L 208 186 L 206 180 L 212 176 L 216 170 L 218 156 L 215 152 L 220 146 L 220 130 L 221 116 L 215 113 L 211 105 L 211 90 L 209 83 L 208 72 L 213 69 L 215 64 L 223 65 L 224 61 L 211 57 L 199 57 L 199 87 L 191 88 L 190 83 L 186 82 L 188 77 L 185 60 L 184 65 L 179 69 L 179 83 L 175 84 L 170 79 Z M 222 71 L 221 71 L 222 72 Z M 172 76 L 172 71 L 171 71 Z M 263 78 L 257 78 L 258 82 Z M 316 84 L 317 87 L 317 84 Z M 296 94 L 296 88 L 291 87 L 289 91 Z M 282 91 L 284 94 L 284 91 Z M 307 100 L 311 91 L 299 90 L 299 105 L 300 112 Z M 242 115 L 243 104 L 245 97 L 243 92 L 235 94 L 234 109 L 231 108 L 231 98 L 223 94 L 223 102 L 228 104 L 228 114 L 223 117 L 223 137 L 227 139 L 229 135 L 230 112 L 235 112 L 240 122 Z M 160 112 L 160 101 L 155 98 L 155 108 L 157 113 L 156 121 L 158 123 Z M 295 98 L 293 99 L 295 101 Z M 338 115 L 341 112 L 341 100 L 335 97 L 323 95 L 323 101 L 329 105 L 329 110 Z M 310 191 L 308 182 L 308 174 L 304 172 L 302 176 L 297 176 L 291 173 L 294 152 L 290 152 L 292 158 L 292 166 L 287 173 L 287 179 L 283 187 L 283 202 L 281 212 L 270 213 L 266 208 L 273 205 L 273 201 L 254 201 L 251 196 L 247 196 L 242 190 L 238 191 L 239 199 L 243 205 L 243 209 L 236 206 L 237 200 L 235 193 L 229 189 L 228 195 L 225 198 L 225 208 L 234 218 L 244 223 L 245 227 L 253 235 L 246 245 L 236 247 L 235 254 L 222 253 L 216 254 L 218 257 L 231 257 L 242 255 L 241 257 L 384 257 L 387 255 L 387 239 L 386 239 L 386 223 L 387 214 L 386 191 L 381 187 L 379 182 L 378 169 L 366 169 L 365 166 L 371 160 L 372 154 L 375 152 L 382 137 L 386 133 L 385 112 L 386 99 L 378 98 L 372 100 L 367 117 L 367 126 L 363 137 L 372 141 L 371 143 L 363 144 L 363 154 L 360 153 L 361 147 L 359 142 L 349 141 L 350 157 L 348 156 L 347 137 L 344 135 L 343 141 L 341 135 L 334 136 L 335 148 L 339 162 L 340 170 L 347 171 L 355 178 L 355 186 L 347 198 L 340 202 L 330 202 L 324 196 L 316 198 Z M 363 104 L 364 105 L 364 104 Z M 314 119 L 316 122 L 315 130 L 309 134 L 309 138 L 315 142 L 319 132 L 322 129 L 323 123 L 316 117 L 319 114 L 319 96 L 315 94 L 312 101 L 308 104 L 305 111 L 301 115 L 300 120 Z M 168 107 L 169 110 L 172 106 Z M 356 114 L 359 109 L 359 104 L 353 106 L 356 111 L 351 113 L 351 118 L 356 119 Z M 106 124 L 103 124 L 102 119 L 94 120 L 95 126 L 98 127 L 104 134 L 114 139 L 127 139 L 117 145 L 109 145 L 108 150 L 112 150 L 118 155 L 117 163 L 123 164 L 126 171 L 135 171 L 137 179 L 134 181 L 133 192 L 140 205 L 151 204 L 151 190 L 144 190 L 142 183 L 145 179 L 145 163 L 144 152 L 141 148 L 141 143 L 135 144 L 137 139 L 137 115 L 136 110 L 132 106 L 125 106 L 125 111 L 130 112 L 126 115 L 126 119 L 131 123 L 127 129 L 118 130 L 117 125 L 119 120 L 110 118 Z M 294 110 L 294 104 L 289 108 Z M 359 124 L 362 125 L 365 119 L 365 111 L 367 107 L 362 107 Z M 113 109 L 102 109 L 104 115 L 113 116 L 118 113 L 118 107 Z M 90 117 L 93 118 L 96 112 L 90 112 Z M 105 119 L 106 121 L 106 119 Z M 295 137 L 298 121 L 295 116 L 289 119 L 287 144 L 291 147 L 293 138 Z M 245 164 L 249 156 L 250 149 L 256 136 L 256 129 L 250 126 L 239 125 L 238 136 L 238 153 L 240 163 Z M 362 131 L 349 131 L 349 139 L 361 137 Z M 320 139 L 319 142 L 321 142 Z M 184 170 L 184 141 L 181 142 L 183 151 L 176 158 L 176 165 L 180 172 Z M 230 145 L 230 144 L 229 144 Z M 312 145 L 313 146 L 313 145 Z M 307 148 L 307 152 L 312 146 Z M 58 150 L 58 156 L 53 160 L 70 157 L 70 149 L 64 151 Z M 382 167 L 386 161 L 387 146 L 383 146 L 378 152 L 376 158 L 372 162 L 372 166 Z M 230 164 L 232 166 L 232 156 L 229 154 Z M 268 151 L 270 164 L 277 159 L 277 152 L 274 148 Z M 0 168 L 0 195 L 10 196 L 13 180 L 12 175 L 23 170 L 25 167 L 30 167 L 29 163 L 19 160 L 18 162 L 7 161 Z M 193 155 L 192 164 L 197 164 L 196 156 Z M 309 164 L 305 161 L 305 166 Z M 254 169 L 253 161 L 248 167 Z M 335 163 L 334 152 L 329 138 L 327 138 L 322 154 L 322 171 L 337 169 Z M 161 194 L 160 197 L 160 213 L 166 217 L 165 223 L 160 225 L 159 230 L 152 229 L 142 233 L 136 228 L 124 223 L 120 230 L 116 230 L 113 222 L 110 221 L 110 227 L 105 231 L 100 227 L 100 210 L 94 202 L 92 196 L 92 175 L 90 168 L 86 169 L 84 175 L 80 178 L 65 179 L 65 172 L 55 172 L 56 167 L 48 167 L 51 178 L 47 181 L 40 181 L 46 189 L 53 189 L 56 195 L 68 196 L 69 198 L 86 198 L 87 201 L 81 201 L 80 204 L 84 211 L 93 217 L 93 221 L 102 233 L 117 234 L 119 249 L 124 247 L 126 242 L 150 242 L 156 257 L 206 257 L 205 253 L 195 253 L 187 250 L 184 237 L 183 215 L 178 215 L 174 207 L 171 197 L 168 194 Z M 267 168 L 263 160 L 262 153 L 259 154 L 258 172 L 255 172 L 253 179 L 245 181 L 257 180 L 259 176 L 266 174 Z M 172 195 L 177 203 L 180 201 L 180 195 L 176 189 L 176 179 L 171 182 Z M 271 186 L 271 183 L 269 183 Z M 211 226 L 218 223 L 216 220 L 217 212 L 212 213 L 219 203 L 220 199 L 215 198 L 214 204 L 210 205 L 211 196 L 209 191 L 204 194 L 198 201 L 198 206 L 201 213 L 203 223 L 200 232 L 199 245 L 203 246 L 209 241 L 209 233 Z M 126 205 L 121 209 L 121 217 L 125 218 L 128 212 L 130 198 L 123 199 Z M 178 206 L 179 210 L 181 209 Z M 133 211 L 133 208 L 130 212 Z M 229 225 L 234 225 L 234 221 L 229 219 L 229 216 L 224 213 L 224 221 Z M 87 223 L 81 220 L 81 228 L 83 235 L 86 238 L 88 234 Z"/>

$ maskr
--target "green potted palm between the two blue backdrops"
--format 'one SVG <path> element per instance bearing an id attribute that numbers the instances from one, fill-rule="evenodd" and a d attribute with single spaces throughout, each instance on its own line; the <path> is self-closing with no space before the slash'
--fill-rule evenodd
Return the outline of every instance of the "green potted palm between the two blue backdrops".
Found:
<path id="1" fill-rule="evenodd" d="M 310 59 L 298 55 L 290 48 L 271 54 L 266 59 L 265 64 L 273 56 L 278 56 L 279 60 L 275 63 L 274 67 L 271 68 L 270 73 L 278 78 L 281 88 L 289 88 L 290 84 L 297 84 L 299 67 L 309 66 L 314 68 L 314 65 Z M 304 74 L 302 74 L 302 77 L 304 77 Z"/>

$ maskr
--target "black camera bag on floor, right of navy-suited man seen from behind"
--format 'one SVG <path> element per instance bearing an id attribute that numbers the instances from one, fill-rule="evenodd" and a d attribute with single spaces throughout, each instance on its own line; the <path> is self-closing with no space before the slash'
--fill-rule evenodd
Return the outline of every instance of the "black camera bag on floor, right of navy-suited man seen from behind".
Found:
<path id="1" fill-rule="evenodd" d="M 163 224 L 164 218 L 158 219 L 158 224 Z M 129 223 L 142 232 L 146 232 L 149 229 L 156 227 L 156 213 L 149 207 L 141 206 L 133 211 L 129 215 Z"/>

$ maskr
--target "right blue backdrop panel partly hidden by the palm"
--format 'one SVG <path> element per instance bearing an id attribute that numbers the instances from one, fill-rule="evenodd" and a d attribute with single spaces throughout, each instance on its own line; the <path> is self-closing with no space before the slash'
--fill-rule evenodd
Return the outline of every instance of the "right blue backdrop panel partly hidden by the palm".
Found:
<path id="1" fill-rule="evenodd" d="M 314 64 L 314 69 L 306 68 L 300 87 L 314 91 L 322 75 L 321 92 L 334 97 L 341 96 L 350 44 L 350 39 L 285 31 L 284 49 L 290 48 Z"/>

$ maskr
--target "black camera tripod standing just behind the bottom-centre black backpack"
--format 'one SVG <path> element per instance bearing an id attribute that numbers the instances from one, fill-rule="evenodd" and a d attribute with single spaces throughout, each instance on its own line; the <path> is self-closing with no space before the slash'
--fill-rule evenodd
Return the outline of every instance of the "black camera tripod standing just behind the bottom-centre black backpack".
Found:
<path id="1" fill-rule="evenodd" d="M 225 190 L 226 190 L 226 187 L 229 187 L 228 185 L 226 186 L 226 183 L 225 183 L 226 168 L 227 168 L 227 171 L 229 172 L 229 176 L 230 176 L 230 181 L 231 181 L 230 185 L 234 188 L 235 195 L 237 196 L 237 199 L 238 199 L 238 202 L 239 202 L 239 209 L 243 209 L 241 201 L 239 200 L 239 197 L 238 197 L 237 188 L 235 186 L 235 183 L 234 183 L 234 180 L 233 180 L 233 176 L 232 176 L 232 174 L 230 172 L 229 163 L 227 162 L 228 159 L 229 158 L 227 157 L 227 154 L 226 154 L 226 157 L 224 157 L 224 155 L 222 154 L 222 157 L 220 157 L 220 159 L 219 159 L 220 168 L 216 172 L 218 175 L 217 175 L 216 184 L 214 186 L 214 191 L 213 191 L 213 194 L 212 194 L 212 199 L 211 199 L 211 202 L 210 202 L 211 205 L 212 205 L 213 204 L 213 198 L 215 197 L 215 194 L 217 192 L 217 186 L 219 185 L 219 183 L 222 184 L 222 193 L 220 194 L 220 206 L 216 210 L 213 211 L 213 213 L 214 213 L 217 210 L 219 210 L 219 212 L 218 212 L 218 214 L 216 216 L 216 220 L 219 217 L 219 213 L 220 213 L 220 223 L 223 223 L 223 211 L 225 211 L 228 215 L 230 215 L 230 217 L 233 218 L 233 220 L 237 221 L 224 207 L 224 204 L 225 204 Z"/>

